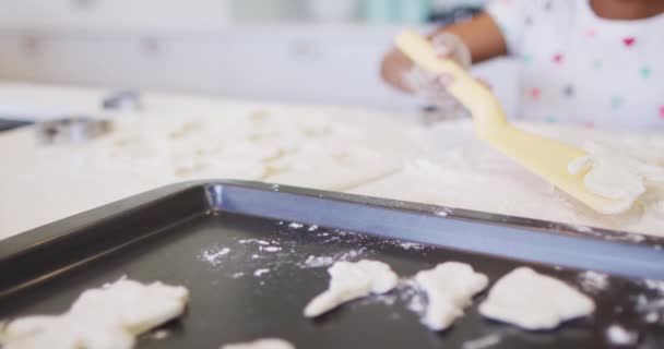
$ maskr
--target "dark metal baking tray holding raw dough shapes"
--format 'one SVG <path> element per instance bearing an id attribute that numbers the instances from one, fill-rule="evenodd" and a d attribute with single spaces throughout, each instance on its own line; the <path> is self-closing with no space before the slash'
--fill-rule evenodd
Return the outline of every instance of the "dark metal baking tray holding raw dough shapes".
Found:
<path id="1" fill-rule="evenodd" d="M 35 201 L 34 209 L 40 209 Z M 318 226 L 318 227 L 316 227 Z M 239 181 L 188 182 L 76 215 L 0 243 L 0 318 L 61 313 L 85 289 L 128 276 L 191 291 L 187 313 L 139 348 L 218 348 L 259 337 L 298 348 L 605 348 L 613 324 L 638 332 L 639 348 L 662 348 L 661 239 L 471 210 Z M 270 248 L 270 249 L 268 249 Z M 224 249 L 228 252 L 224 254 Z M 432 333 L 412 311 L 422 299 L 400 287 L 301 316 L 328 285 L 325 263 L 374 258 L 400 276 L 444 261 L 471 263 L 491 282 L 520 265 L 592 296 L 593 317 L 554 332 L 484 320 L 477 297 L 452 328 Z M 581 272 L 610 274 L 608 286 Z M 652 301 L 651 303 L 649 303 Z M 647 308 L 648 308 L 647 306 Z M 653 312 L 659 321 L 652 322 Z M 649 323 L 650 322 L 650 323 Z M 465 344 L 465 347 L 464 347 Z M 475 345 L 475 347 L 472 347 Z"/>

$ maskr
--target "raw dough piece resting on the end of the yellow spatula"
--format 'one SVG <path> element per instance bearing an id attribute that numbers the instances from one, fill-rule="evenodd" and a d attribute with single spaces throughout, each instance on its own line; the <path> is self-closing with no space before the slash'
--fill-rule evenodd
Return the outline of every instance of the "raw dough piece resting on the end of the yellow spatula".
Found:
<path id="1" fill-rule="evenodd" d="M 627 212 L 650 183 L 664 183 L 664 168 L 650 158 L 592 142 L 584 148 L 588 155 L 570 163 L 568 171 L 578 174 L 588 170 L 583 183 L 590 192 L 624 202 L 603 214 Z"/>

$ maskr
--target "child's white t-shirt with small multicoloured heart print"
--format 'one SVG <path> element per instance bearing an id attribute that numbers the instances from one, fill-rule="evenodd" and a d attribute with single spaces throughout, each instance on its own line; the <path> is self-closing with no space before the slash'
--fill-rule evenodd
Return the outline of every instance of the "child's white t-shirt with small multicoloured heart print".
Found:
<path id="1" fill-rule="evenodd" d="M 664 131 L 664 14 L 605 20 L 589 0 L 495 0 L 487 12 L 521 62 L 520 118 Z"/>

